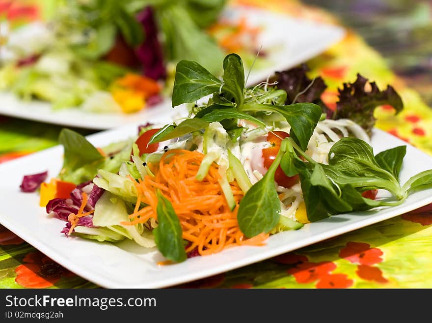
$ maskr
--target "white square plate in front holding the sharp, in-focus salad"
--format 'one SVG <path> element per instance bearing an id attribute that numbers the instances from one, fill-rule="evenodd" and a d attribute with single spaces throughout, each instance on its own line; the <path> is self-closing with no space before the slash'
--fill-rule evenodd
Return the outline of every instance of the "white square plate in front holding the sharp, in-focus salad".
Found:
<path id="1" fill-rule="evenodd" d="M 103 147 L 134 135 L 136 127 L 128 126 L 87 138 L 96 147 Z M 374 130 L 375 153 L 401 145 L 407 146 L 401 183 L 432 168 L 431 156 L 388 133 Z M 57 263 L 107 288 L 160 288 L 185 283 L 268 259 L 432 203 L 432 189 L 429 189 L 412 194 L 400 206 L 335 215 L 297 231 L 272 235 L 265 246 L 233 247 L 180 264 L 158 266 L 157 262 L 164 259 L 155 248 L 146 249 L 130 241 L 112 244 L 66 238 L 60 234 L 65 223 L 47 216 L 45 208 L 38 206 L 38 194 L 20 192 L 24 175 L 48 170 L 49 176 L 56 176 L 62 165 L 62 154 L 63 148 L 56 146 L 0 165 L 0 223 Z"/>

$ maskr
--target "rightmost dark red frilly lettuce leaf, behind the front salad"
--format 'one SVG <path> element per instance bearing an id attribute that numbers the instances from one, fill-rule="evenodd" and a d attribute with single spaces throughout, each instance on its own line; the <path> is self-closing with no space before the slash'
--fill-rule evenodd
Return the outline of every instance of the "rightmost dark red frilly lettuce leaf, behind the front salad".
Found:
<path id="1" fill-rule="evenodd" d="M 380 91 L 375 82 L 369 82 L 370 90 L 365 86 L 368 79 L 357 74 L 354 83 L 344 83 L 339 91 L 339 101 L 336 110 L 327 110 L 327 117 L 332 119 L 348 118 L 358 123 L 370 134 L 375 125 L 374 110 L 380 105 L 390 105 L 396 114 L 402 111 L 404 104 L 401 97 L 391 86 Z"/>

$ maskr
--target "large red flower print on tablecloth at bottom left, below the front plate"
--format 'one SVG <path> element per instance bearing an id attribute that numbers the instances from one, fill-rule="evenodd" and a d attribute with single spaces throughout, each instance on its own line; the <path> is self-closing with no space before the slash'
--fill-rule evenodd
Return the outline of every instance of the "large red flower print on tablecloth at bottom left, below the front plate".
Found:
<path id="1" fill-rule="evenodd" d="M 75 275 L 39 251 L 27 254 L 23 261 L 25 264 L 15 268 L 15 282 L 26 288 L 51 287 L 61 277 Z"/>

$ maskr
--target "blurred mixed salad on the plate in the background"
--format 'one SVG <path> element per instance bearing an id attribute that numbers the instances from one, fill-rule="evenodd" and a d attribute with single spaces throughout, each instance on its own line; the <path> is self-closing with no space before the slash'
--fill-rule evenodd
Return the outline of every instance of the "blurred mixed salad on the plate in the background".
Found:
<path id="1" fill-rule="evenodd" d="M 237 40 L 239 47 L 246 43 L 240 37 L 255 43 L 252 36 L 258 30 L 245 21 L 238 26 L 216 23 L 225 4 L 50 1 L 46 5 L 55 14 L 47 22 L 14 26 L 6 3 L 8 19 L 0 21 L 0 90 L 50 102 L 54 110 L 134 113 L 153 106 L 171 94 L 179 60 L 196 60 L 217 75 L 218 62 L 233 46 L 227 39 Z M 243 49 L 249 56 L 257 50 Z"/>

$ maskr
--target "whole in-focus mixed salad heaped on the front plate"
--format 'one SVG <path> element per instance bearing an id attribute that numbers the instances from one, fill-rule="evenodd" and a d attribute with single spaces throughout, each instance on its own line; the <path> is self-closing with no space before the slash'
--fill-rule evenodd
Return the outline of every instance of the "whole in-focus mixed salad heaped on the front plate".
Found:
<path id="1" fill-rule="evenodd" d="M 399 183 L 405 146 L 374 155 L 368 143 L 375 106 L 402 109 L 393 88 L 371 83 L 366 92 L 359 76 L 330 113 L 317 95 L 324 82 L 309 80 L 304 67 L 251 88 L 238 55 L 226 56 L 223 70 L 219 79 L 181 60 L 172 106 L 189 104 L 190 116 L 140 126 L 136 138 L 98 148 L 62 130 L 60 174 L 27 176 L 22 189 L 42 183 L 41 206 L 66 222 L 66 236 L 131 239 L 182 262 L 262 245 L 333 214 L 396 206 L 432 186 L 432 170 Z M 390 197 L 377 199 L 378 189 Z"/>

